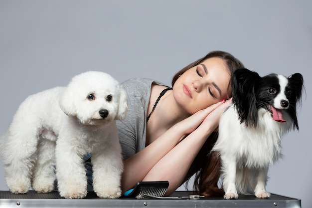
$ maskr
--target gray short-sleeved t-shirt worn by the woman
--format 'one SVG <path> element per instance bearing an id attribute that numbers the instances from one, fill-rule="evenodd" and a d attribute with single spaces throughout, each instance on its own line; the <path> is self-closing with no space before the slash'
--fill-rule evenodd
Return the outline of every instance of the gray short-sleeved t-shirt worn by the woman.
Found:
<path id="1" fill-rule="evenodd" d="M 121 83 L 128 94 L 127 117 L 123 121 L 117 121 L 123 159 L 129 158 L 145 148 L 146 118 L 152 83 L 166 86 L 147 78 L 133 78 Z"/>

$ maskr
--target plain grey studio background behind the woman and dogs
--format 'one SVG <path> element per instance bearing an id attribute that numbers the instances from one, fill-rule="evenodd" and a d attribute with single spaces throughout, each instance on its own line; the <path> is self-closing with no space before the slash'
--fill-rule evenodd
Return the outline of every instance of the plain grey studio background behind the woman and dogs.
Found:
<path id="1" fill-rule="evenodd" d="M 267 189 L 310 207 L 311 10 L 310 0 L 0 0 L 0 134 L 28 95 L 78 73 L 170 84 L 188 63 L 225 50 L 260 75 L 303 74 L 300 131 L 284 137 Z"/>

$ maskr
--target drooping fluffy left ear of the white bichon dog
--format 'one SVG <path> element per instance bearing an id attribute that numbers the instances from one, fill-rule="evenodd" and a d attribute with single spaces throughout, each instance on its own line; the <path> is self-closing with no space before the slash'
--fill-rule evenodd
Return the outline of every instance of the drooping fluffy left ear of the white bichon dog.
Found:
<path id="1" fill-rule="evenodd" d="M 62 111 L 68 116 L 76 115 L 73 90 L 66 88 L 59 98 L 59 105 Z"/>

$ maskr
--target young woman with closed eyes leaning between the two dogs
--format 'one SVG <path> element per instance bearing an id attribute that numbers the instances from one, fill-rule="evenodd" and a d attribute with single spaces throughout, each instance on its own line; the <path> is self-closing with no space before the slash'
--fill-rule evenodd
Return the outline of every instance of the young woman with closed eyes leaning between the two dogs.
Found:
<path id="1" fill-rule="evenodd" d="M 220 161 L 209 152 L 230 103 L 231 74 L 242 67 L 231 54 L 212 51 L 175 74 L 172 88 L 143 78 L 122 83 L 129 96 L 127 118 L 117 122 L 123 192 L 140 181 L 169 181 L 170 195 L 195 173 L 200 194 L 214 192 Z"/>

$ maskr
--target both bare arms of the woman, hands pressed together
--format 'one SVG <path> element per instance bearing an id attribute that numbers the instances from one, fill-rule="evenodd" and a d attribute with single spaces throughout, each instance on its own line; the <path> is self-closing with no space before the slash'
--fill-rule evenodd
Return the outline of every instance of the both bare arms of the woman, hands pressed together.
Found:
<path id="1" fill-rule="evenodd" d="M 123 191 L 133 188 L 139 181 L 161 180 L 169 181 L 167 193 L 175 191 L 182 183 L 201 146 L 217 127 L 220 115 L 227 106 L 221 104 L 223 102 L 198 111 L 177 123 L 145 149 L 125 160 Z M 202 124 L 198 127 L 200 123 Z M 191 134 L 179 143 L 180 139 L 189 133 Z"/>

